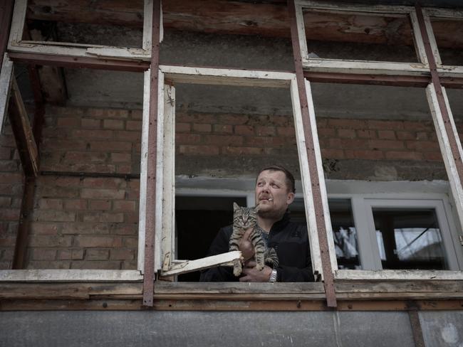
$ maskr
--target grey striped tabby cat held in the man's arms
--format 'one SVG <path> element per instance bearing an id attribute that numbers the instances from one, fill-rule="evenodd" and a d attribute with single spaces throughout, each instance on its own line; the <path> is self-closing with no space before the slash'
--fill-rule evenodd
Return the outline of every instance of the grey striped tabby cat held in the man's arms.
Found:
<path id="1" fill-rule="evenodd" d="M 257 225 L 257 213 L 259 212 L 259 205 L 256 207 L 240 207 L 233 203 L 233 233 L 230 237 L 230 251 L 239 250 L 239 242 L 244 235 L 244 231 L 249 228 L 254 228 L 249 240 L 254 246 L 256 252 L 256 269 L 259 271 L 264 269 L 264 265 L 270 267 L 278 267 L 278 256 L 274 248 L 267 248 L 266 242 L 262 233 L 265 233 L 259 225 Z M 239 276 L 242 272 L 241 260 L 235 260 L 233 266 L 233 274 Z"/>

